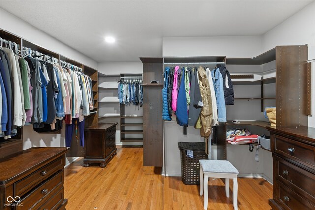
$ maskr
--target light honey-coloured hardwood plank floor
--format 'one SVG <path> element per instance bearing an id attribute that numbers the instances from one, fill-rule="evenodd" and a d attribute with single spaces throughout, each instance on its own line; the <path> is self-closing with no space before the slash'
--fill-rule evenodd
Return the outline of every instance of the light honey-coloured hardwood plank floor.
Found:
<path id="1" fill-rule="evenodd" d="M 65 169 L 67 210 L 203 210 L 199 185 L 185 185 L 180 177 L 155 174 L 143 167 L 142 148 L 118 148 L 106 168 L 84 168 L 83 159 Z M 233 210 L 221 179 L 208 182 L 208 210 Z M 272 185 L 261 178 L 238 178 L 239 210 L 270 210 Z"/>

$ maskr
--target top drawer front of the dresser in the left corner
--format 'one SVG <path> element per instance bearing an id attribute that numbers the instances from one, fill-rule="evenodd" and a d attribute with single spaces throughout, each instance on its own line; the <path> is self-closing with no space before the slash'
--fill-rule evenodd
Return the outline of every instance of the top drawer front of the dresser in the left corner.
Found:
<path id="1" fill-rule="evenodd" d="M 49 163 L 39 170 L 33 172 L 26 178 L 16 182 L 14 184 L 14 196 L 22 197 L 25 193 L 38 185 L 41 181 L 47 179 L 52 174 L 63 169 L 63 166 L 63 157 L 60 157 L 57 160 L 54 160 L 52 163 Z"/>

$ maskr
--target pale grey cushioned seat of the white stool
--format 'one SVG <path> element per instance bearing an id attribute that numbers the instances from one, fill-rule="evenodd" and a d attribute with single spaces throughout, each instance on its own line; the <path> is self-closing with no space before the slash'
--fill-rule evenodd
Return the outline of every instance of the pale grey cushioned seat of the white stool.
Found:
<path id="1" fill-rule="evenodd" d="M 227 160 L 199 160 L 203 172 L 238 174 L 237 169 Z"/>

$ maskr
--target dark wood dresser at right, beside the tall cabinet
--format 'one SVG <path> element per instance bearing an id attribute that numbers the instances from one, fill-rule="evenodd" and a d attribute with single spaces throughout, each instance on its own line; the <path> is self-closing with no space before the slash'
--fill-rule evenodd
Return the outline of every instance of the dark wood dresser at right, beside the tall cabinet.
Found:
<path id="1" fill-rule="evenodd" d="M 315 128 L 267 127 L 273 157 L 274 210 L 315 209 Z"/>

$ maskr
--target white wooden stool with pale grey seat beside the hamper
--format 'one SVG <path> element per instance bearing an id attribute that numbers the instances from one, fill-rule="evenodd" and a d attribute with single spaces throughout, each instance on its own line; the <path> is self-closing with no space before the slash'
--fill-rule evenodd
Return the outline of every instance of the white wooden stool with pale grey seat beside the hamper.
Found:
<path id="1" fill-rule="evenodd" d="M 233 179 L 233 207 L 237 210 L 237 169 L 227 160 L 199 160 L 200 195 L 204 191 L 204 209 L 208 208 L 208 178 L 225 178 L 226 197 L 230 197 L 229 179 Z M 202 180 L 203 179 L 203 180 Z"/>

